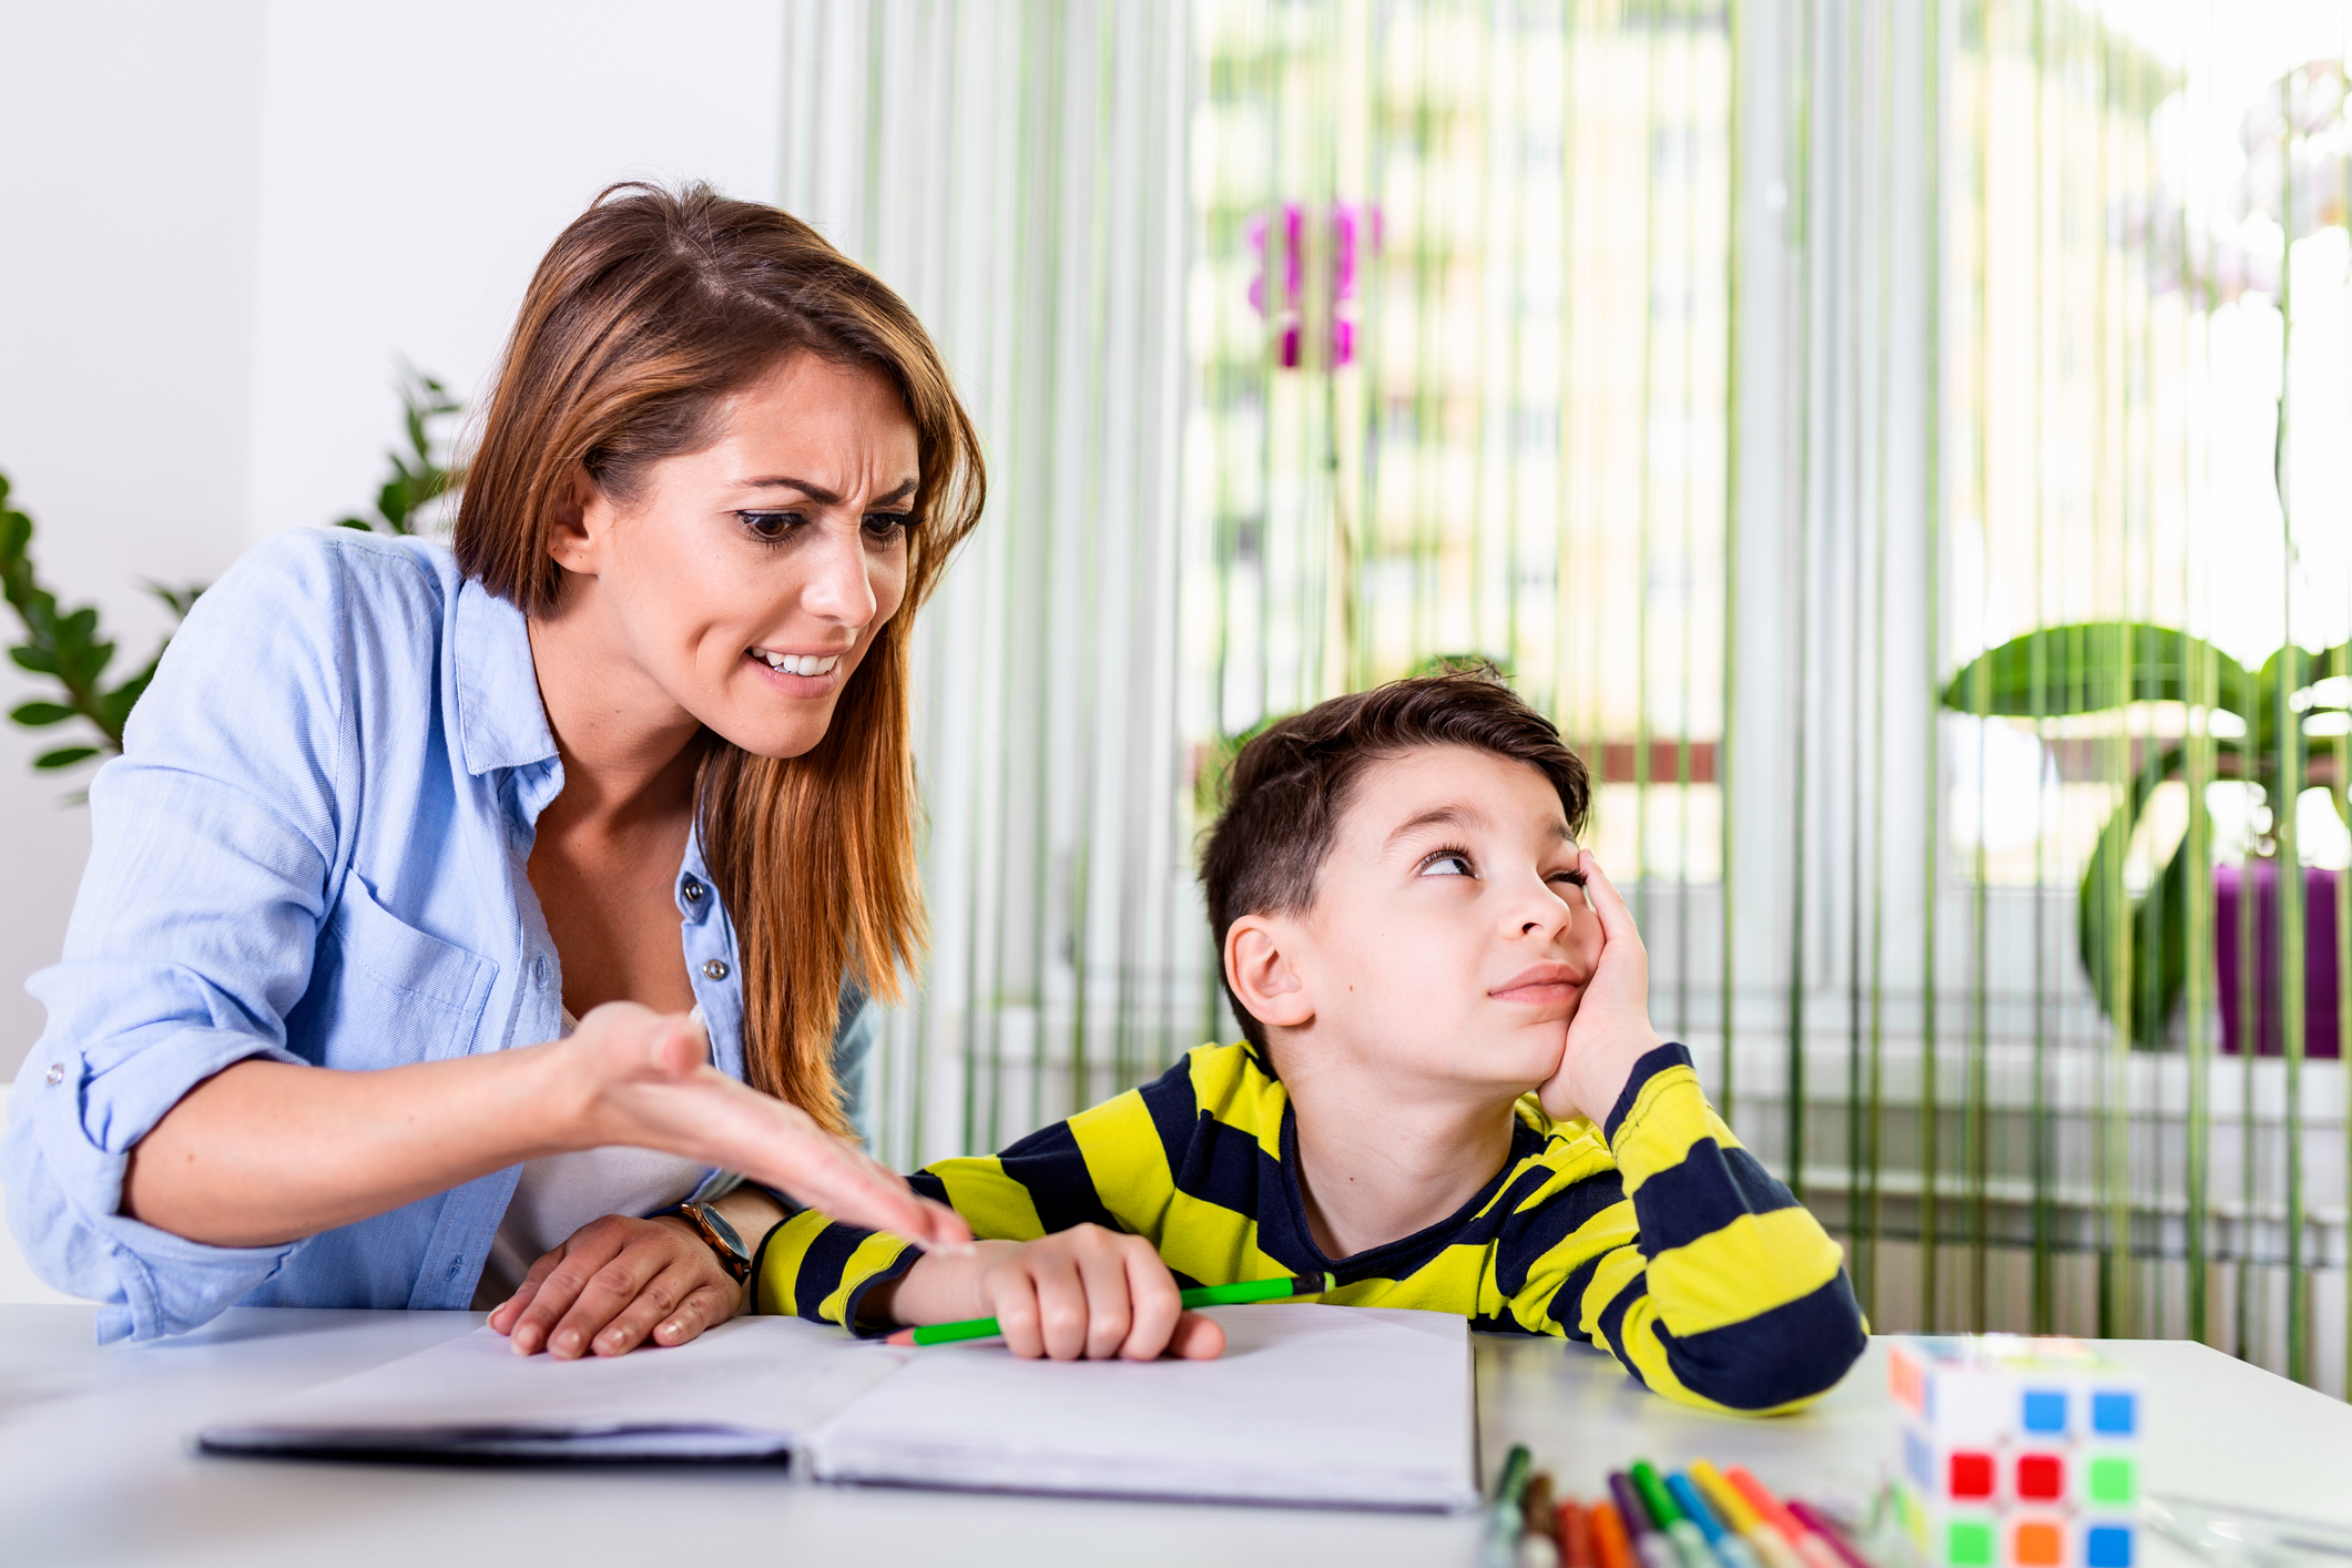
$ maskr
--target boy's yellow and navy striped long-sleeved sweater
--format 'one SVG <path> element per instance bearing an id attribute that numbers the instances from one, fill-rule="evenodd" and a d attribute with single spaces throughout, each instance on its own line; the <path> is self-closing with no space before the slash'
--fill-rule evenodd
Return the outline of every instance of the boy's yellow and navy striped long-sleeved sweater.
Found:
<path id="1" fill-rule="evenodd" d="M 1329 1302 L 1588 1340 L 1710 1408 L 1802 1403 L 1863 1352 L 1837 1244 L 1731 1135 L 1682 1046 L 1642 1058 L 1599 1131 L 1524 1095 L 1477 1197 L 1355 1258 L 1324 1258 L 1308 1232 L 1289 1095 L 1247 1044 L 1200 1046 L 1155 1084 L 913 1182 L 983 1239 L 1091 1220 L 1150 1237 L 1185 1286 L 1331 1272 Z M 866 1291 L 915 1255 L 800 1213 L 760 1251 L 757 1309 L 856 1326 Z"/>

